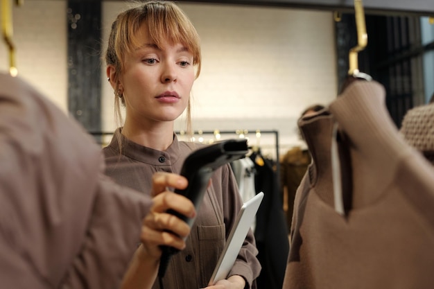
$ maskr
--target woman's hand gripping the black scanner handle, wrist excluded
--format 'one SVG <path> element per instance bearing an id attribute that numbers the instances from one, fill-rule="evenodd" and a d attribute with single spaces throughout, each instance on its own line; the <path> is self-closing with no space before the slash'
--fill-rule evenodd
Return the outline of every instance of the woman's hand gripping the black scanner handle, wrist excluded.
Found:
<path id="1" fill-rule="evenodd" d="M 153 175 L 153 207 L 144 218 L 141 229 L 141 242 L 144 253 L 153 259 L 159 259 L 160 245 L 184 249 L 184 238 L 189 235 L 190 227 L 180 218 L 166 213 L 172 209 L 188 218 L 194 218 L 196 211 L 193 203 L 182 195 L 168 191 L 185 189 L 188 182 L 185 177 L 173 173 L 155 173 Z"/>

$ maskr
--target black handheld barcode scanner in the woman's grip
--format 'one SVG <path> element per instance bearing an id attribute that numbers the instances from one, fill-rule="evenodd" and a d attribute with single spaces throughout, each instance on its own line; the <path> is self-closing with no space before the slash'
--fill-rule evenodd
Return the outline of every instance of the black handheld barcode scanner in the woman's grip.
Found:
<path id="1" fill-rule="evenodd" d="M 186 157 L 182 164 L 180 175 L 188 179 L 189 184 L 184 190 L 175 190 L 175 193 L 185 195 L 193 202 L 196 211 L 202 203 L 205 191 L 212 173 L 218 167 L 228 164 L 236 159 L 245 157 L 248 152 L 247 139 L 228 139 L 219 141 L 218 143 L 199 148 L 191 152 Z M 194 218 L 186 218 L 186 216 L 177 213 L 173 210 L 168 210 L 169 213 L 184 220 L 190 227 L 193 225 Z M 162 246 L 162 257 L 159 263 L 158 276 L 164 277 L 171 256 L 179 252 L 178 249 L 168 246 Z"/>

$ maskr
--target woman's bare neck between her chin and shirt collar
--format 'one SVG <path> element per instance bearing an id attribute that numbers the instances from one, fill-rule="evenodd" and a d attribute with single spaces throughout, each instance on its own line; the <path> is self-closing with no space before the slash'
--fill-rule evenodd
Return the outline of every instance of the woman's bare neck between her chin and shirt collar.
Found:
<path id="1" fill-rule="evenodd" d="M 122 134 L 141 146 L 164 151 L 173 143 L 173 122 L 139 126 L 125 121 Z"/>

